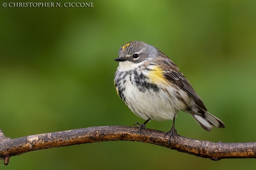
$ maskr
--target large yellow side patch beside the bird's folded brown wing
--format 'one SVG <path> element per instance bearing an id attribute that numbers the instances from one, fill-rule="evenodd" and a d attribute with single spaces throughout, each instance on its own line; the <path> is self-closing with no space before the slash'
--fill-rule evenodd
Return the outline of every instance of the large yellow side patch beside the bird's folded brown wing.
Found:
<path id="1" fill-rule="evenodd" d="M 149 71 L 148 78 L 149 81 L 154 84 L 168 84 L 168 81 L 166 81 L 166 78 L 164 77 L 164 69 L 159 68 L 158 66 L 152 67 L 152 70 Z"/>

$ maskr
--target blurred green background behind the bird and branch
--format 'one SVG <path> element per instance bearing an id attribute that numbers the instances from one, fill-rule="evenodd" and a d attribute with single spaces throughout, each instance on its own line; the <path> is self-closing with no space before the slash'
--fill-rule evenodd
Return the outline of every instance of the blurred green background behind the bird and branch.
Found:
<path id="1" fill-rule="evenodd" d="M 15 8 L 2 2 L 8 1 L 0 4 L 0 127 L 6 137 L 144 122 L 113 86 L 119 47 L 139 40 L 169 56 L 209 112 L 226 125 L 207 132 L 181 112 L 178 134 L 213 142 L 256 141 L 256 1 L 94 0 L 91 8 Z M 171 124 L 152 121 L 147 127 L 168 131 Z M 29 152 L 0 165 L 215 170 L 255 169 L 255 161 L 213 162 L 151 144 L 115 141 Z"/>

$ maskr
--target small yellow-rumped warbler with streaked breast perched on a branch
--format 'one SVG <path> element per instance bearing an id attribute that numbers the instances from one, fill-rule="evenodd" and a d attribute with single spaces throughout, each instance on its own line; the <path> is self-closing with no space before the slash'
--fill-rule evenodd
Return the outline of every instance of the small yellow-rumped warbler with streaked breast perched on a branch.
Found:
<path id="1" fill-rule="evenodd" d="M 142 41 L 128 42 L 120 47 L 119 58 L 115 61 L 119 62 L 114 75 L 117 94 L 135 115 L 146 120 L 142 125 L 135 123 L 140 126 L 140 135 L 150 119 L 173 119 L 169 132 L 175 131 L 178 111 L 191 114 L 207 131 L 212 126 L 225 127 L 220 119 L 207 111 L 176 64 L 156 47 Z"/>

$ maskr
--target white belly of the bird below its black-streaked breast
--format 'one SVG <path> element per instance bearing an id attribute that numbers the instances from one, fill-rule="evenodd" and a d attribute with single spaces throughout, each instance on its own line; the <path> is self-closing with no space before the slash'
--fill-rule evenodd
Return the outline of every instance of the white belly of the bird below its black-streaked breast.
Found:
<path id="1" fill-rule="evenodd" d="M 135 115 L 145 120 L 148 118 L 156 121 L 171 120 L 178 111 L 185 110 L 186 103 L 191 101 L 187 93 L 182 90 L 178 91 L 170 85 L 158 85 L 158 91 L 147 89 L 145 92 L 142 92 L 134 83 L 131 83 L 129 76 L 125 80 L 123 83 L 125 86 L 125 103 Z M 175 97 L 177 92 L 182 96 L 183 101 Z"/>

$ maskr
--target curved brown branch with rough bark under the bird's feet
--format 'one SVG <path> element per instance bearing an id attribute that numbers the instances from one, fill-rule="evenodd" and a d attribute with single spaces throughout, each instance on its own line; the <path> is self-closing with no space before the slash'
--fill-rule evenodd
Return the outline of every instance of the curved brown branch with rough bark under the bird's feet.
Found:
<path id="1" fill-rule="evenodd" d="M 0 159 L 3 159 L 4 164 L 8 165 L 10 157 L 22 153 L 39 149 L 103 141 L 138 141 L 167 147 L 168 138 L 164 138 L 164 135 L 165 132 L 148 129 L 148 132 L 143 132 L 140 137 L 138 127 L 98 126 L 12 139 L 5 137 L 0 129 Z M 174 140 L 171 140 L 169 148 L 211 160 L 256 158 L 256 142 L 209 142 L 174 134 Z"/>

